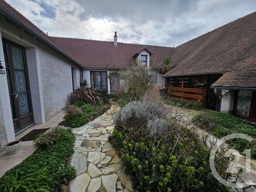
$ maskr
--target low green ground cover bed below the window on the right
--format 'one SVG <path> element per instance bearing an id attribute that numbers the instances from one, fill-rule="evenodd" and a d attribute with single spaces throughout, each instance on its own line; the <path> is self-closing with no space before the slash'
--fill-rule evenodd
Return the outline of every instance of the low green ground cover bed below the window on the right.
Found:
<path id="1" fill-rule="evenodd" d="M 254 138 L 251 142 L 244 139 L 233 139 L 229 144 L 239 152 L 251 149 L 251 156 L 256 158 L 256 124 L 241 120 L 226 113 L 205 110 L 197 114 L 192 120 L 196 125 L 206 128 L 216 137 L 222 138 L 233 133 L 247 134 Z"/>

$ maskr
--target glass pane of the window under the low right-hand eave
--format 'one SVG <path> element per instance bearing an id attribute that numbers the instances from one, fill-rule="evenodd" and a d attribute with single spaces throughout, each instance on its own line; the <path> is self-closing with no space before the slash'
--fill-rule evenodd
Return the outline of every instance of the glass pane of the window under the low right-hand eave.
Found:
<path id="1" fill-rule="evenodd" d="M 252 98 L 252 91 L 248 90 L 240 90 L 238 92 L 238 99 L 237 99 L 237 114 L 242 116 L 249 116 L 250 112 L 250 104 Z"/>

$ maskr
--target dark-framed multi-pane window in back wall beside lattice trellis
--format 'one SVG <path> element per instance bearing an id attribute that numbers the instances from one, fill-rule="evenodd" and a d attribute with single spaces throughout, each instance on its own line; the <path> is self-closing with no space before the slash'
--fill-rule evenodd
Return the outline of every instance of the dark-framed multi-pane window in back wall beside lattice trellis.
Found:
<path id="1" fill-rule="evenodd" d="M 108 89 L 108 76 L 106 71 L 91 71 L 91 87 Z"/>

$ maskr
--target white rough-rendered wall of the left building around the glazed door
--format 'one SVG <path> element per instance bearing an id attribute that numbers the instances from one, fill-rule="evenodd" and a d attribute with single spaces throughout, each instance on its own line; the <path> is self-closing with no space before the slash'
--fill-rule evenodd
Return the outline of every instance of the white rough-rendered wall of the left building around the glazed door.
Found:
<path id="1" fill-rule="evenodd" d="M 27 35 L 23 30 L 6 22 L 2 14 L 0 14 L 0 31 L 2 37 L 25 47 L 34 120 L 37 124 L 44 123 L 66 105 L 67 95 L 72 92 L 71 67 L 75 68 L 74 85 L 80 86 L 81 68 L 50 46 L 36 41 L 34 37 Z M 0 48 L 0 56 L 2 54 L 3 51 Z M 1 56 L 2 63 L 4 62 L 3 58 Z M 7 86 L 6 76 L 4 79 L 6 82 L 1 80 L 1 83 L 6 83 Z M 76 86 L 74 87 L 76 88 Z M 7 90 L 1 89 L 2 92 L 6 92 L 5 101 L 8 101 L 8 108 L 10 108 L 8 87 Z M 10 130 L 13 130 L 11 111 L 4 111 L 11 119 L 11 123 L 6 122 L 5 125 L 12 126 Z M 14 138 L 14 131 L 11 135 Z"/>

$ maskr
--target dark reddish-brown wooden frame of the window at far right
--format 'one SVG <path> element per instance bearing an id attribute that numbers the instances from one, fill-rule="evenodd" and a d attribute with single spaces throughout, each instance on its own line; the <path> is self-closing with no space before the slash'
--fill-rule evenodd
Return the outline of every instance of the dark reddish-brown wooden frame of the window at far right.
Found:
<path id="1" fill-rule="evenodd" d="M 251 103 L 250 103 L 250 112 L 249 112 L 248 117 L 236 114 L 237 101 L 238 101 L 238 92 L 239 92 L 239 90 L 235 90 L 235 93 L 234 93 L 233 114 L 235 116 L 241 118 L 241 119 L 256 122 L 256 91 L 252 91 L 252 97 L 251 97 Z"/>

